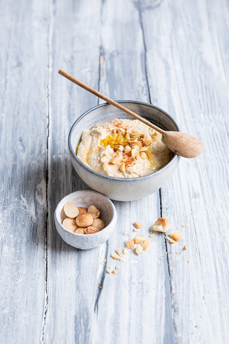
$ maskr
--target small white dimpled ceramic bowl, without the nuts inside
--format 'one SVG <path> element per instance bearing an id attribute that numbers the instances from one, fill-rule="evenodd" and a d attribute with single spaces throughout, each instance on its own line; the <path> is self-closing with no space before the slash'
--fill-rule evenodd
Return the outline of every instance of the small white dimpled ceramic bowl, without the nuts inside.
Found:
<path id="1" fill-rule="evenodd" d="M 62 223 L 67 217 L 63 209 L 67 202 L 72 202 L 77 207 L 86 209 L 88 209 L 90 205 L 95 205 L 101 211 L 99 218 L 105 223 L 105 227 L 94 234 L 77 234 L 66 229 L 62 226 Z M 114 231 L 117 213 L 113 203 L 107 197 L 98 192 L 82 190 L 75 191 L 62 198 L 61 202 L 59 202 L 56 207 L 54 219 L 57 232 L 67 244 L 86 250 L 88 248 L 100 246 L 107 241 Z"/>

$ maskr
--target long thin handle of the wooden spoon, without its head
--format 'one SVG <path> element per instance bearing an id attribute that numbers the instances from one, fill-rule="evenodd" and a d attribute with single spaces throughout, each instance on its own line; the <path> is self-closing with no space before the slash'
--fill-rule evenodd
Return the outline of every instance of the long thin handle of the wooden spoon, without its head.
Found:
<path id="1" fill-rule="evenodd" d="M 162 130 L 161 128 L 155 126 L 154 124 L 152 124 L 151 122 L 149 122 L 148 120 L 142 118 L 141 116 L 135 114 L 135 112 L 125 108 L 124 106 L 122 106 L 121 104 L 117 103 L 116 101 L 106 97 L 105 95 L 103 95 L 102 93 L 96 91 L 94 88 L 84 84 L 83 82 L 81 82 L 80 80 L 74 78 L 74 76 L 68 74 L 67 72 L 63 71 L 63 69 L 60 69 L 59 74 L 63 75 L 65 78 L 69 79 L 70 81 L 72 81 L 73 83 L 75 83 L 76 85 L 86 89 L 87 91 L 89 91 L 90 93 L 93 93 L 95 96 L 107 101 L 107 103 L 117 107 L 118 109 L 126 112 L 126 114 L 138 119 L 139 121 L 141 121 L 142 123 L 145 123 L 147 126 L 149 126 L 150 128 L 153 128 L 154 130 L 159 131 L 162 135 L 165 134 L 165 131 Z"/>

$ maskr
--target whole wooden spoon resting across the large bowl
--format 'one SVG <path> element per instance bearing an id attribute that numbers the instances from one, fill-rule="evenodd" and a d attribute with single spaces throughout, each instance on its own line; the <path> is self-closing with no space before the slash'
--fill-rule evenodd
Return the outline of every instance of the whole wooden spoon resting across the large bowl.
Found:
<path id="1" fill-rule="evenodd" d="M 65 78 L 71 80 L 75 84 L 77 84 L 80 87 L 83 87 L 87 91 L 93 93 L 97 97 L 107 101 L 107 103 L 117 107 L 118 109 L 126 112 L 128 115 L 138 119 L 139 121 L 145 123 L 147 126 L 150 128 L 153 128 L 154 130 L 159 131 L 165 139 L 165 144 L 166 146 L 175 154 L 181 155 L 181 157 L 185 158 L 195 158 L 198 157 L 203 152 L 203 146 L 202 143 L 195 138 L 192 135 L 186 134 L 185 132 L 180 132 L 180 131 L 165 131 L 162 130 L 161 128 L 155 126 L 148 120 L 140 117 L 139 115 L 135 114 L 133 111 L 125 108 L 119 103 L 116 103 L 116 101 L 106 97 L 102 93 L 96 91 L 94 88 L 91 88 L 90 86 L 82 83 L 80 80 L 74 78 L 74 76 L 66 73 L 62 69 L 59 70 L 59 74 L 63 75 Z"/>

